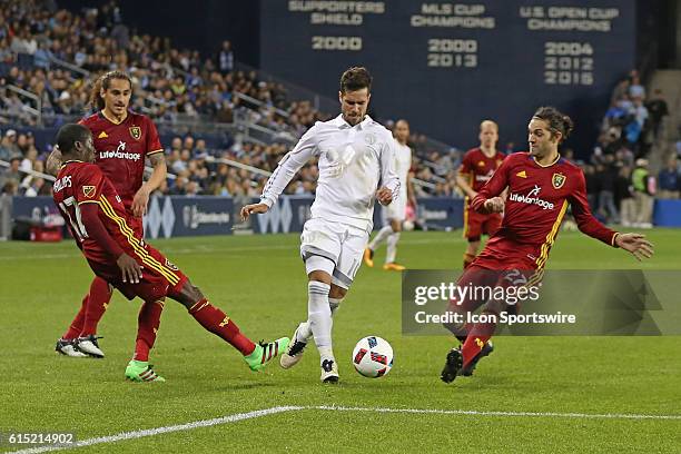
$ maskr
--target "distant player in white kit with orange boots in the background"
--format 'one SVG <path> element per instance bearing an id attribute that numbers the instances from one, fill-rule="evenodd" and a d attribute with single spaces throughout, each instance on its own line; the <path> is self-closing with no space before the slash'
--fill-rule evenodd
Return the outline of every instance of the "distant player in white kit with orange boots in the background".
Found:
<path id="1" fill-rule="evenodd" d="M 387 243 L 387 253 L 385 255 L 385 265 L 383 269 L 402 272 L 404 265 L 395 261 L 397 256 L 397 241 L 402 231 L 402 224 L 406 217 L 407 201 L 416 207 L 416 198 L 414 197 L 414 187 L 409 179 L 409 169 L 412 168 L 412 149 L 407 145 L 409 139 L 409 124 L 406 120 L 398 120 L 395 124 L 395 172 L 402 182 L 399 187 L 399 197 L 385 208 L 384 218 L 387 223 L 383 226 L 378 234 L 371 240 L 367 248 L 364 250 L 364 263 L 368 267 L 374 266 L 374 253 L 384 240 Z"/>

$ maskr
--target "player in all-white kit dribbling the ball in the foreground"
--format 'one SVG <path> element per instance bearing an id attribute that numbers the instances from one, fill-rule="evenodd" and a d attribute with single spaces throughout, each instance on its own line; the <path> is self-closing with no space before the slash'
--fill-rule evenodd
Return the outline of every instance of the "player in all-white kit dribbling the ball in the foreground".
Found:
<path id="1" fill-rule="evenodd" d="M 319 351 L 322 382 L 337 383 L 332 345 L 333 315 L 355 278 L 369 233 L 374 201 L 389 205 L 399 193 L 394 171 L 395 140 L 366 115 L 372 77 L 349 68 L 340 77 L 340 115 L 317 121 L 279 161 L 259 204 L 241 208 L 241 219 L 267 213 L 294 175 L 313 157 L 319 178 L 312 218 L 300 235 L 300 255 L 308 276 L 307 320 L 298 325 L 280 365 L 297 364 L 310 337 Z"/>

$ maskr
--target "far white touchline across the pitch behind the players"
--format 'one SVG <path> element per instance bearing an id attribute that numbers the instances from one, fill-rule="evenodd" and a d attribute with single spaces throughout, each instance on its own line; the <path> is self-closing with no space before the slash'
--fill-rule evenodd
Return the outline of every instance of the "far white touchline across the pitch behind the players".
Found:
<path id="1" fill-rule="evenodd" d="M 65 241 L 70 241 L 70 239 L 65 239 Z M 403 239 L 401 240 L 402 245 L 426 245 L 431 243 L 442 243 L 442 239 L 436 238 L 421 238 L 421 239 Z M 156 247 L 156 246 L 155 246 Z M 253 245 L 253 246 L 240 246 L 240 247 L 221 247 L 215 248 L 206 245 L 197 245 L 194 247 L 186 248 L 174 248 L 161 247 L 159 250 L 167 256 L 174 255 L 184 255 L 184 254 L 231 254 L 231 253 L 249 253 L 251 250 L 284 250 L 290 249 L 294 251 L 298 250 L 298 243 L 290 245 Z M 0 244 L 0 251 L 2 250 L 2 246 Z M 0 255 L 0 261 L 4 260 L 45 260 L 45 259 L 53 259 L 53 258 L 71 258 L 71 257 L 80 257 L 80 251 L 73 246 L 70 251 L 63 253 L 55 253 L 55 254 L 20 254 L 20 255 Z"/>

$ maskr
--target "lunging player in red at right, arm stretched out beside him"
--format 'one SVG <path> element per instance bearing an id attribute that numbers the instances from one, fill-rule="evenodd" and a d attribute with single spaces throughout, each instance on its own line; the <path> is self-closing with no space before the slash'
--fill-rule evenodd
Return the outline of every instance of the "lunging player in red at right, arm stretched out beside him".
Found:
<path id="1" fill-rule="evenodd" d="M 539 283 L 568 205 L 572 207 L 582 233 L 622 248 L 639 260 L 652 256 L 653 246 L 643 235 L 613 231 L 591 215 L 584 174 L 559 154 L 559 145 L 572 127 L 570 117 L 555 108 L 536 110 L 527 129 L 530 151 L 506 156 L 473 199 L 471 205 L 476 211 L 503 211 L 504 219 L 483 251 L 460 277 L 460 286 L 507 287 Z M 507 189 L 506 200 L 500 197 L 504 189 Z M 452 300 L 450 309 L 473 312 L 481 306 L 483 314 L 517 310 L 503 300 L 471 298 Z M 490 338 L 495 326 L 494 323 L 446 326 L 463 345 L 447 354 L 441 375 L 443 382 L 473 374 L 477 362 L 492 352 Z"/>

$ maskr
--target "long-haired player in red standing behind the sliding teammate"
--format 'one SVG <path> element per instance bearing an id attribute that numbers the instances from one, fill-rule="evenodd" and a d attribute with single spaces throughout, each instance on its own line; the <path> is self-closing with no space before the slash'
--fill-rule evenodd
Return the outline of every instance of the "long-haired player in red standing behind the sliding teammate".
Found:
<path id="1" fill-rule="evenodd" d="M 166 179 L 167 168 L 154 121 L 147 116 L 128 110 L 132 96 L 132 81 L 121 71 L 101 76 L 92 87 L 90 102 L 97 112 L 80 120 L 95 138 L 95 162 L 116 187 L 130 214 L 130 227 L 140 237 L 142 215 L 149 195 Z M 145 160 L 154 171 L 142 181 Z M 59 151 L 48 158 L 48 171 L 57 172 L 61 162 Z M 97 343 L 97 324 L 111 299 L 111 287 L 95 277 L 80 310 L 70 327 L 57 342 L 56 351 L 68 356 L 103 357 Z"/>

